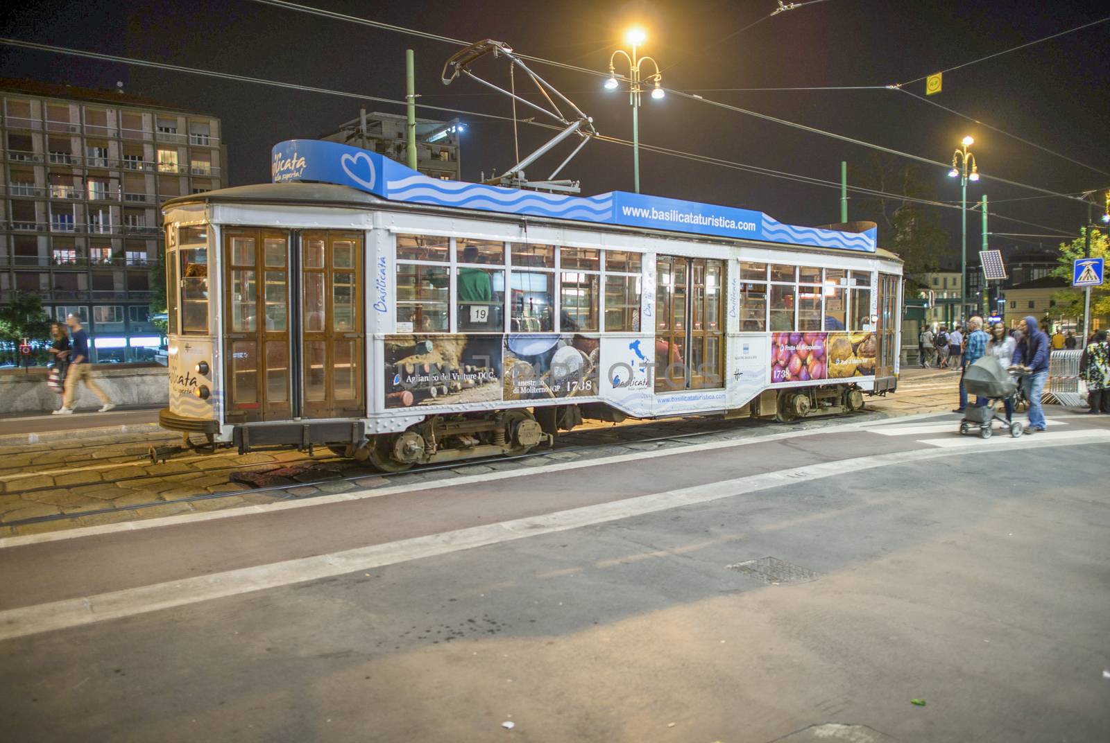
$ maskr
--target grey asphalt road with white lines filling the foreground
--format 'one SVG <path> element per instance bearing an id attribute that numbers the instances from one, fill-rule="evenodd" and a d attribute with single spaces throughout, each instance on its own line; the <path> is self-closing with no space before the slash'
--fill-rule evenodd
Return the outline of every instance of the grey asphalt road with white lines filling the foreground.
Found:
<path id="1" fill-rule="evenodd" d="M 1110 740 L 1110 419 L 956 419 L 0 540 L 6 737 Z"/>

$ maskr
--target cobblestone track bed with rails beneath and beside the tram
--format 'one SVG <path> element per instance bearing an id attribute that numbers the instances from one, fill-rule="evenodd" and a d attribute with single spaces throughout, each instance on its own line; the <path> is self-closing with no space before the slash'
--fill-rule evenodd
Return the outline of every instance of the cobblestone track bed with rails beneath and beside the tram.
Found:
<path id="1" fill-rule="evenodd" d="M 941 413 L 956 404 L 957 381 L 956 372 L 911 369 L 904 375 L 897 394 L 868 398 L 867 411 L 862 414 L 850 418 L 811 418 L 785 426 L 719 418 L 588 425 L 562 435 L 555 449 L 541 456 L 461 462 L 389 479 L 369 465 L 335 457 L 326 449 L 317 449 L 311 457 L 292 450 L 243 456 L 233 449 L 221 449 L 214 455 L 185 451 L 152 465 L 147 454 L 150 446 L 173 446 L 180 441 L 168 431 L 3 446 L 0 447 L 0 536 L 40 533 L 184 511 L 220 510 L 381 487 L 386 482 L 395 486 L 552 461 L 682 447 L 688 444 L 684 438 L 695 436 L 699 441 L 751 438 L 868 417 Z M 254 485 L 276 487 L 258 489 L 233 480 L 236 474 Z M 249 477 L 242 478 L 244 474 Z M 67 518 L 67 515 L 71 516 Z"/>

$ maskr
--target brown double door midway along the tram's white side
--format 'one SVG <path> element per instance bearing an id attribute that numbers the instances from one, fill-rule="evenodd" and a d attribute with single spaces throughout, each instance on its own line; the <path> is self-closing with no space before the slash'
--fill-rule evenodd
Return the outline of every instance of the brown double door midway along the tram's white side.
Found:
<path id="1" fill-rule="evenodd" d="M 655 390 L 725 386 L 725 262 L 656 257 Z"/>

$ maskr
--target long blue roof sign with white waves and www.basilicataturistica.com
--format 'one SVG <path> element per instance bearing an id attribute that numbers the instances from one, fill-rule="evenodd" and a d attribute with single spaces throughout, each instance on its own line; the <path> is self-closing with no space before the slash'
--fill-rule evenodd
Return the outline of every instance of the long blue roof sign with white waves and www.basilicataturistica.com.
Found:
<path id="1" fill-rule="evenodd" d="M 351 186 L 389 201 L 455 206 L 502 214 L 543 216 L 716 235 L 767 243 L 876 251 L 876 231 L 861 233 L 803 227 L 733 206 L 612 191 L 596 196 L 522 191 L 482 183 L 432 179 L 376 152 L 339 142 L 289 140 L 274 145 L 274 183 L 312 181 Z"/>

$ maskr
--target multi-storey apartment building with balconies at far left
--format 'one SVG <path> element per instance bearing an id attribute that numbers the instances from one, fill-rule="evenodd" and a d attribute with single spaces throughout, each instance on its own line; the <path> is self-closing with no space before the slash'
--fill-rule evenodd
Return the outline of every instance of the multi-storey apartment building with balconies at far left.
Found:
<path id="1" fill-rule="evenodd" d="M 221 122 L 111 90 L 0 79 L 0 303 L 81 317 L 93 359 L 153 355 L 159 206 L 226 184 Z"/>

